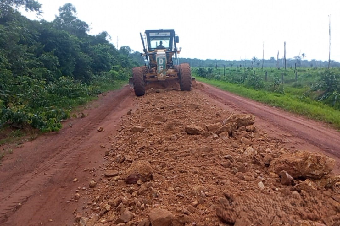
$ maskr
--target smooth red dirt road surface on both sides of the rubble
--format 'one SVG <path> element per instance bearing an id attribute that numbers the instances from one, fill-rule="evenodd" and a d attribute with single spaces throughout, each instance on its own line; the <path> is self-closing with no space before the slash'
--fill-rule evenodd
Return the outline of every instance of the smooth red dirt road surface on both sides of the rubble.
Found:
<path id="1" fill-rule="evenodd" d="M 254 114 L 256 126 L 286 140 L 287 147 L 335 158 L 334 172 L 340 172 L 338 131 L 206 84 L 199 83 L 196 90 L 226 110 Z M 60 132 L 40 136 L 6 155 L 0 167 L 0 225 L 72 225 L 72 210 L 85 203 L 73 199 L 75 190 L 88 189 L 104 162 L 100 145 L 108 147 L 107 137 L 116 133 L 134 101 L 128 86 L 109 92 L 84 111 L 86 117 L 70 119 Z M 97 132 L 100 126 L 103 132 Z"/>

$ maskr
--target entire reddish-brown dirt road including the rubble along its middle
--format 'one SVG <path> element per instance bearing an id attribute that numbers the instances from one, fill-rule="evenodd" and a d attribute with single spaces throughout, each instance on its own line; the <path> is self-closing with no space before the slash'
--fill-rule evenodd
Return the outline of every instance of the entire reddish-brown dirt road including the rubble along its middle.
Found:
<path id="1" fill-rule="evenodd" d="M 6 155 L 0 225 L 339 225 L 338 131 L 202 83 L 149 88 Z"/>

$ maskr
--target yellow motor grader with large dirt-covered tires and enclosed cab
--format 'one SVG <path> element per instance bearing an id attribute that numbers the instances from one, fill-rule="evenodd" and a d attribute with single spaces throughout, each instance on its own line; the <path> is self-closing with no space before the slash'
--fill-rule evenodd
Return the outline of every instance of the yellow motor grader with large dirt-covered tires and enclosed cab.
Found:
<path id="1" fill-rule="evenodd" d="M 132 85 L 136 96 L 145 94 L 145 86 L 150 82 L 176 80 L 180 83 L 181 91 L 191 90 L 191 69 L 188 63 L 177 65 L 177 49 L 179 37 L 173 29 L 146 30 L 145 35 L 140 33 L 143 44 L 145 66 L 132 69 Z"/>

